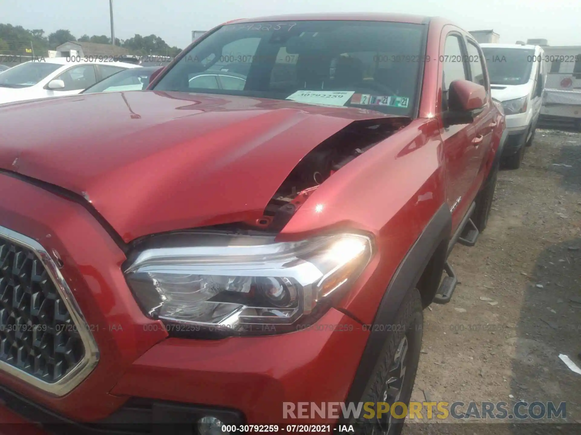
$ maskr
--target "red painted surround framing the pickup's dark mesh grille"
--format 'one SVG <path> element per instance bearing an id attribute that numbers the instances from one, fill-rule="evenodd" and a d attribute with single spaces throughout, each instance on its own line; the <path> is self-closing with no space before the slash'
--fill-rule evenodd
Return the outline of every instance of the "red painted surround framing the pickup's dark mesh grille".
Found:
<path id="1" fill-rule="evenodd" d="M 101 353 L 92 374 L 61 398 L 2 372 L 0 383 L 72 418 L 103 418 L 125 401 L 109 394 L 119 377 L 167 333 L 147 331 L 152 329 L 147 325 L 157 322 L 141 313 L 125 284 L 123 252 L 82 206 L 2 174 L 0 191 L 0 225 L 34 238 L 48 252 L 59 252 L 64 263 L 60 271 Z"/>

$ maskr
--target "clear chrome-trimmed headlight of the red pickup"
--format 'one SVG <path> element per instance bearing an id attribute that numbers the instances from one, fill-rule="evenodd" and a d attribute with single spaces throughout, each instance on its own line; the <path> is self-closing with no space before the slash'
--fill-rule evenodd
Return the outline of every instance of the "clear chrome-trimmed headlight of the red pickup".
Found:
<path id="1" fill-rule="evenodd" d="M 371 239 L 360 234 L 274 242 L 182 233 L 165 240 L 130 258 L 125 277 L 145 313 L 170 331 L 291 331 L 321 314 L 372 252 Z"/>

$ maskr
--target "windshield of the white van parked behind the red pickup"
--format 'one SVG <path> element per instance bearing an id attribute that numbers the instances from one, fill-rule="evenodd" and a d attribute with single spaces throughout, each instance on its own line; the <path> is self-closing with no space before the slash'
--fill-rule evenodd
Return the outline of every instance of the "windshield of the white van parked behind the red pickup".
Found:
<path id="1" fill-rule="evenodd" d="M 529 81 L 535 50 L 482 47 L 482 52 L 486 58 L 490 84 L 524 85 Z"/>

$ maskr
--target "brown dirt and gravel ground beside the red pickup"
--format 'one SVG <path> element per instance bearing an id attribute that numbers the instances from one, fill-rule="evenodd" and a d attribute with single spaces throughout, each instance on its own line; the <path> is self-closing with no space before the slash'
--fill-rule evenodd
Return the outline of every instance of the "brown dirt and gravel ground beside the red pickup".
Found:
<path id="1" fill-rule="evenodd" d="M 565 401 L 566 423 L 433 419 L 404 434 L 581 434 L 581 375 L 558 358 L 581 367 L 581 134 L 537 130 L 521 168 L 501 171 L 486 231 L 450 262 L 461 284 L 425 311 L 412 400 Z"/>

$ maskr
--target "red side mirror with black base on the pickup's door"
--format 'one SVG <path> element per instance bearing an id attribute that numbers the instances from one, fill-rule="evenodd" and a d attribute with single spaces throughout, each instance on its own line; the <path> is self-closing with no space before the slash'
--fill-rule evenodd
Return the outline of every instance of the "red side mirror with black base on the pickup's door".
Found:
<path id="1" fill-rule="evenodd" d="M 454 80 L 448 90 L 448 110 L 443 113 L 446 126 L 470 124 L 474 111 L 486 104 L 486 88 L 468 80 Z"/>

